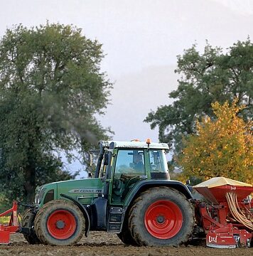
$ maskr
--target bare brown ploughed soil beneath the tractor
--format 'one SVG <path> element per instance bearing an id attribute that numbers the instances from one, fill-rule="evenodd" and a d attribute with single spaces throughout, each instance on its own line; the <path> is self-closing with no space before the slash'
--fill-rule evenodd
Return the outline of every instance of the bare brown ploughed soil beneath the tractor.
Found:
<path id="1" fill-rule="evenodd" d="M 198 242 L 197 245 L 183 245 L 181 247 L 134 247 L 124 245 L 117 235 L 104 232 L 91 232 L 88 238 L 82 238 L 75 246 L 56 247 L 50 245 L 29 245 L 23 238 L 23 235 L 14 234 L 11 235 L 11 243 L 9 245 L 0 245 L 0 255 L 250 256 L 253 255 L 253 248 L 215 249 L 205 247 L 204 242 Z"/>

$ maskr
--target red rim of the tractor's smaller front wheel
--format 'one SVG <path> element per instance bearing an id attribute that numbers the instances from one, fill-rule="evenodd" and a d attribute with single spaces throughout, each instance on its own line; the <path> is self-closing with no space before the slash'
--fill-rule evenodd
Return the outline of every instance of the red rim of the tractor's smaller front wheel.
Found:
<path id="1" fill-rule="evenodd" d="M 55 210 L 48 218 L 48 232 L 53 238 L 68 239 L 75 233 L 77 223 L 68 210 Z"/>

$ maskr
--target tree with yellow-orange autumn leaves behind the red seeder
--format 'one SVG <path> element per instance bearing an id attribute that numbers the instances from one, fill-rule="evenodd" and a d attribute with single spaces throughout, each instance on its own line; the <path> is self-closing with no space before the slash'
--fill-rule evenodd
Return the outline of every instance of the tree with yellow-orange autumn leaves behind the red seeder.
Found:
<path id="1" fill-rule="evenodd" d="M 215 120 L 203 117 L 197 132 L 184 140 L 185 148 L 178 159 L 183 176 L 212 178 L 225 176 L 253 183 L 252 122 L 238 117 L 243 107 L 228 102 L 212 104 Z"/>

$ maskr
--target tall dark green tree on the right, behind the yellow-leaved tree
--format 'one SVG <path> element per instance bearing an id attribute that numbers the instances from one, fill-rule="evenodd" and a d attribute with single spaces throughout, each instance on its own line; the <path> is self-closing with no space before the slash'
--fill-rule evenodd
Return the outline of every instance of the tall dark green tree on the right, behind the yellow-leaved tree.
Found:
<path id="1" fill-rule="evenodd" d="M 222 53 L 222 48 L 205 46 L 200 54 L 193 45 L 178 55 L 176 73 L 181 75 L 177 90 L 169 97 L 173 104 L 158 107 L 148 114 L 144 122 L 151 129 L 158 127 L 159 140 L 168 142 L 178 154 L 182 150 L 182 138 L 195 132 L 195 120 L 213 116 L 211 103 L 232 102 L 246 107 L 241 112 L 244 119 L 252 118 L 253 107 L 253 44 L 238 41 Z"/>

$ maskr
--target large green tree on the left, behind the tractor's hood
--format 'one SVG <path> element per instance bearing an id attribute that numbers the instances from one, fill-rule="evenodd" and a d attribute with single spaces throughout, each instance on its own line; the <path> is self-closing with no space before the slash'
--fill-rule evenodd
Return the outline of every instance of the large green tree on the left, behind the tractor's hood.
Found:
<path id="1" fill-rule="evenodd" d="M 86 154 L 112 87 L 102 45 L 59 23 L 8 29 L 0 41 L 0 188 L 33 201 L 36 186 L 70 178 L 60 153 Z"/>

